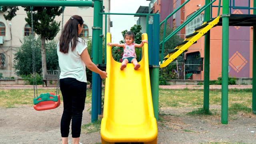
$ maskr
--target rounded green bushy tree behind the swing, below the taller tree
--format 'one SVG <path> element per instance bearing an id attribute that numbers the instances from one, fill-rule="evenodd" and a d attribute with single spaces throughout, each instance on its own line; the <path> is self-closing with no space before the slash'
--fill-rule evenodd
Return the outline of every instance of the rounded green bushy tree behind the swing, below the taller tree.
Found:
<path id="1" fill-rule="evenodd" d="M 29 75 L 33 72 L 33 59 L 32 59 L 32 37 L 24 37 L 21 42 L 21 47 L 16 54 L 14 54 L 14 66 L 13 68 L 18 71 L 19 75 Z M 46 44 L 46 64 L 48 70 L 56 70 L 58 67 L 58 55 L 56 50 L 55 41 L 49 41 Z M 40 37 L 34 40 L 35 50 L 35 66 L 36 72 L 39 73 L 42 70 L 42 57 L 40 55 Z"/>

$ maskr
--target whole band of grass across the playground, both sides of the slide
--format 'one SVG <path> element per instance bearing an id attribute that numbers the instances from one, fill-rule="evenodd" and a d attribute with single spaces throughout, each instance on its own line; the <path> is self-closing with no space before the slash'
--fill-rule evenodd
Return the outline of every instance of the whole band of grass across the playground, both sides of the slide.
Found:
<path id="1" fill-rule="evenodd" d="M 38 96 L 42 93 L 55 92 L 56 89 L 38 89 Z M 221 106 L 222 91 L 210 90 L 210 104 Z M 104 90 L 102 90 L 104 95 Z M 0 90 L 0 107 L 4 108 L 16 108 L 19 106 L 33 106 L 34 91 L 33 89 L 11 89 Z M 60 92 L 60 98 L 62 100 L 62 94 Z M 92 89 L 87 89 L 86 103 L 92 102 Z M 231 89 L 228 90 L 228 103 L 229 114 L 236 114 L 237 112 L 252 112 L 252 89 Z M 202 106 L 204 104 L 204 90 L 202 89 L 159 89 L 159 107 L 173 107 L 173 108 L 186 108 L 195 107 L 201 108 L 194 110 L 193 114 L 204 114 Z M 90 111 L 90 109 L 88 109 Z M 163 112 L 159 112 L 161 114 Z M 215 111 L 213 114 L 217 114 Z"/>

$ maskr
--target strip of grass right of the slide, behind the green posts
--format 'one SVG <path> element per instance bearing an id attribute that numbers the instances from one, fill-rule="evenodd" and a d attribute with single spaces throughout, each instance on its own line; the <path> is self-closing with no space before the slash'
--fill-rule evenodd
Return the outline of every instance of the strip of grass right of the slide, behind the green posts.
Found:
<path id="1" fill-rule="evenodd" d="M 211 105 L 221 106 L 222 91 L 210 90 L 209 100 Z M 252 105 L 252 89 L 228 90 L 228 102 L 243 103 L 245 106 Z M 204 105 L 204 90 L 188 88 L 179 90 L 159 89 L 159 104 L 161 107 L 202 107 Z M 250 110 L 247 110 L 250 111 Z"/>

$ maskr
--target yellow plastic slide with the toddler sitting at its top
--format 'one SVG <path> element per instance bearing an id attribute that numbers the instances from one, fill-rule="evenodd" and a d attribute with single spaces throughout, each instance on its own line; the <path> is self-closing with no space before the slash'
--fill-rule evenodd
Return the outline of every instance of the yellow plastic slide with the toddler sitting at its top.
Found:
<path id="1" fill-rule="evenodd" d="M 142 34 L 142 40 L 148 40 Z M 107 43 L 111 34 L 107 34 Z M 157 143 L 157 124 L 152 104 L 150 77 L 148 70 L 148 44 L 142 47 L 140 68 L 134 70 L 133 64 L 127 64 L 120 70 L 121 63 L 116 62 L 107 47 L 108 78 L 105 83 L 104 112 L 101 122 L 102 144 L 116 142 Z"/>

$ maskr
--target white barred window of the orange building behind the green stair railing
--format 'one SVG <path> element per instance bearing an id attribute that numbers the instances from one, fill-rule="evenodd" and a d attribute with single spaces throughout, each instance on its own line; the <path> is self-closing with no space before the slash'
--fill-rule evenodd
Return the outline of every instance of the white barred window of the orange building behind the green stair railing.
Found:
<path id="1" fill-rule="evenodd" d="M 192 16 L 193 14 L 190 14 L 188 18 L 190 18 L 190 16 Z M 186 35 L 192 34 L 195 31 L 195 28 L 198 28 L 199 26 L 201 26 L 203 24 L 204 21 L 204 14 L 199 14 L 198 16 L 196 16 L 196 18 L 194 18 L 191 22 L 189 22 L 186 25 Z"/>

